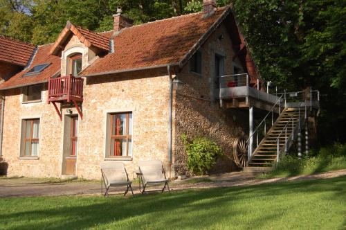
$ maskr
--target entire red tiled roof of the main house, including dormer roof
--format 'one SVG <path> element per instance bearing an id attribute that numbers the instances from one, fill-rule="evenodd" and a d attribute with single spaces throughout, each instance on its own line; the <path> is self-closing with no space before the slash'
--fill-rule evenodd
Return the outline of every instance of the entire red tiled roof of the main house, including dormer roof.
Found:
<path id="1" fill-rule="evenodd" d="M 244 42 L 234 16 L 228 17 L 230 12 L 230 7 L 226 7 L 218 8 L 209 17 L 203 17 L 203 12 L 172 17 L 124 28 L 118 34 L 114 34 L 113 31 L 97 34 L 75 27 L 68 22 L 54 44 L 39 46 L 30 67 L 3 82 L 0 89 L 44 82 L 55 73 L 58 73 L 61 68 L 58 53 L 69 42 L 72 35 L 76 35 L 86 46 L 99 48 L 100 51 L 108 51 L 109 39 L 115 36 L 113 37 L 114 52 L 93 62 L 91 66 L 82 71 L 82 76 L 161 67 L 167 64 L 183 67 L 194 51 L 197 51 L 224 19 L 232 22 L 228 26 L 228 31 L 233 39 L 233 46 Z M 242 57 L 242 62 L 244 62 L 247 69 L 249 69 L 248 67 L 255 68 L 253 61 L 248 58 L 250 56 L 247 51 L 239 53 L 239 57 Z M 41 73 L 24 76 L 36 64 L 45 63 L 51 63 L 51 65 Z"/>

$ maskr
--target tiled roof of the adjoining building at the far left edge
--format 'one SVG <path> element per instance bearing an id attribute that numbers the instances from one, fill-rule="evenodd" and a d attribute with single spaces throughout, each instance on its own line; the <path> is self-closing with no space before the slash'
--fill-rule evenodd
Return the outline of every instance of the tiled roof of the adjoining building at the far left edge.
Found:
<path id="1" fill-rule="evenodd" d="M 30 60 L 35 46 L 0 35 L 0 62 L 9 62 L 25 67 Z"/>

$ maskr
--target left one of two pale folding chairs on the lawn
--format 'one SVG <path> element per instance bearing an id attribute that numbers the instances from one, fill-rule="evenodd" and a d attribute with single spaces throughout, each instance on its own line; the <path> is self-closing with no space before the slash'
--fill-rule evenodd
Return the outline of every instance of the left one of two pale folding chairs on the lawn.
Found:
<path id="1" fill-rule="evenodd" d="M 127 189 L 124 193 L 126 195 L 131 189 L 132 195 L 134 195 L 134 191 L 132 191 L 131 183 L 129 181 L 129 176 L 127 175 L 127 171 L 124 163 L 107 161 L 100 163 L 101 173 L 102 173 L 102 182 L 101 182 L 101 194 L 106 196 L 108 195 L 109 188 L 111 186 L 127 186 Z M 106 191 L 103 193 L 103 185 L 106 187 Z"/>

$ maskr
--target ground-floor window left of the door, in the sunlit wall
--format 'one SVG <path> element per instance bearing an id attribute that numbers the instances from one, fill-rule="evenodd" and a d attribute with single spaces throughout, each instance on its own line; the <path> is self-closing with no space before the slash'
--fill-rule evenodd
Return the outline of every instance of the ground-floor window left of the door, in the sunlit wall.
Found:
<path id="1" fill-rule="evenodd" d="M 21 123 L 21 157 L 39 154 L 39 119 L 25 119 Z"/>

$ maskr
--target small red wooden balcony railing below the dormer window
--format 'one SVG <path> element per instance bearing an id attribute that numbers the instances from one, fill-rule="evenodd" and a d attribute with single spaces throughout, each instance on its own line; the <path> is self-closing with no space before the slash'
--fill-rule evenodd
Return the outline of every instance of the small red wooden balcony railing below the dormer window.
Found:
<path id="1" fill-rule="evenodd" d="M 48 103 L 83 101 L 83 78 L 71 75 L 50 78 L 48 81 Z"/>

